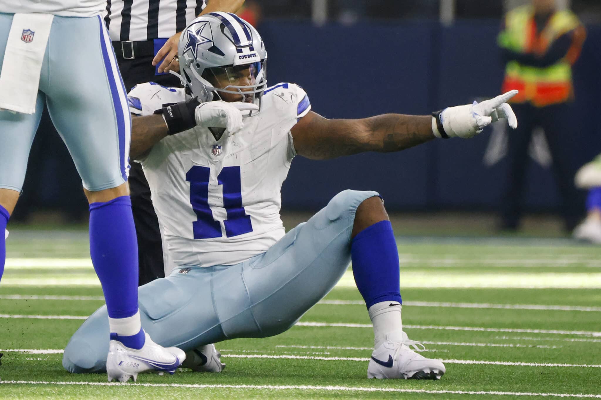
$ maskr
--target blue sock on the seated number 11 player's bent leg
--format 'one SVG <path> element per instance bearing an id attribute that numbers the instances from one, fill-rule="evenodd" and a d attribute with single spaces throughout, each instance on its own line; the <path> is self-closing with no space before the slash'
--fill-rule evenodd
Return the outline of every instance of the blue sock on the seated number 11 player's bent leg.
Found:
<path id="1" fill-rule="evenodd" d="M 401 303 L 397 240 L 390 221 L 380 221 L 359 232 L 350 248 L 353 276 L 370 308 L 375 303 Z"/>

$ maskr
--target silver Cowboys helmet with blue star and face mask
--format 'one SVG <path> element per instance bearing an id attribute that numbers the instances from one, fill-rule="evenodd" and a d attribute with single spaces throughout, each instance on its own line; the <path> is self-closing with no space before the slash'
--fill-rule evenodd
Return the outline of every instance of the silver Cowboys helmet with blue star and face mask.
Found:
<path id="1" fill-rule="evenodd" d="M 180 79 L 201 103 L 244 101 L 260 109 L 267 52 L 257 30 L 236 14 L 218 11 L 193 20 L 180 36 L 178 56 Z"/>

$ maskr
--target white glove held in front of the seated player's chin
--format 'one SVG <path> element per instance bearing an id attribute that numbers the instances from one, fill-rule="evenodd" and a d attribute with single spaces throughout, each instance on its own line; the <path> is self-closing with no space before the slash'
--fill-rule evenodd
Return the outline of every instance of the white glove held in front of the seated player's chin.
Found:
<path id="1" fill-rule="evenodd" d="M 233 135 L 241 130 L 242 112 L 249 110 L 258 110 L 259 107 L 252 103 L 242 103 L 242 101 L 207 101 L 196 107 L 194 118 L 197 126 L 204 128 L 226 128 L 229 135 Z"/>

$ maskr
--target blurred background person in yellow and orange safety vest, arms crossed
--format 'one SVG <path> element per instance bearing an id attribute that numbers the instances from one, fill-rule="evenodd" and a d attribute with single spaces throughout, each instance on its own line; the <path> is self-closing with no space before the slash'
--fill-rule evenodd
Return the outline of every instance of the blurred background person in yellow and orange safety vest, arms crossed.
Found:
<path id="1" fill-rule="evenodd" d="M 509 173 L 501 204 L 501 228 L 515 230 L 521 203 L 528 148 L 535 127 L 542 127 L 551 151 L 561 195 L 564 228 L 571 231 L 581 216 L 581 194 L 573 185 L 575 119 L 572 65 L 585 40 L 584 26 L 555 0 L 532 0 L 505 14 L 498 37 L 505 65 L 503 91 L 519 90 L 511 101 L 519 125 L 508 137 Z"/>

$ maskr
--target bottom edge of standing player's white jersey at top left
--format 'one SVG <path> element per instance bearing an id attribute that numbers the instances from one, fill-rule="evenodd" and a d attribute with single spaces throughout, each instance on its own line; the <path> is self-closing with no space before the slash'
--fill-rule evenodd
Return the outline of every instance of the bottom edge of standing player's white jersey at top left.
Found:
<path id="1" fill-rule="evenodd" d="M 0 0 L 0 13 L 93 17 L 106 13 L 106 0 Z"/>

